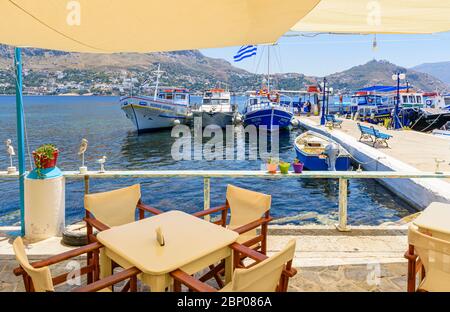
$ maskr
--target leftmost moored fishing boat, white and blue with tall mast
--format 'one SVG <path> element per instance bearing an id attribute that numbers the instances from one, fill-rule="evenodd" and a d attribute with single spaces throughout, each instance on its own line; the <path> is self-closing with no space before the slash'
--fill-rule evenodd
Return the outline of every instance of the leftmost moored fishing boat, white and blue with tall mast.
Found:
<path id="1" fill-rule="evenodd" d="M 120 107 L 136 127 L 138 133 L 170 128 L 189 119 L 189 90 L 185 88 L 159 88 L 160 68 L 156 74 L 153 96 L 125 96 Z"/>

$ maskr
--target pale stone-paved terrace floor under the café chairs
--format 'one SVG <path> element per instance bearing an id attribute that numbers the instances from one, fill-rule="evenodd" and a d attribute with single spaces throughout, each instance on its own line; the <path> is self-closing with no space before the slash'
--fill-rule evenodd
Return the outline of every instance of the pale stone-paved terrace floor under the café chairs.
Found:
<path id="1" fill-rule="evenodd" d="M 407 247 L 406 227 L 355 227 L 340 233 L 331 227 L 273 227 L 268 237 L 268 255 L 288 240 L 297 241 L 289 291 L 405 291 Z M 0 291 L 24 291 L 22 279 L 14 276 L 17 266 L 11 250 L 12 238 L 0 237 Z M 68 250 L 60 238 L 29 244 L 31 260 Z M 79 260 L 84 261 L 83 258 Z M 52 267 L 54 274 L 65 271 L 67 263 Z M 213 284 L 214 285 L 214 284 Z M 57 291 L 68 291 L 63 285 Z M 148 290 L 141 286 L 141 290 Z"/>

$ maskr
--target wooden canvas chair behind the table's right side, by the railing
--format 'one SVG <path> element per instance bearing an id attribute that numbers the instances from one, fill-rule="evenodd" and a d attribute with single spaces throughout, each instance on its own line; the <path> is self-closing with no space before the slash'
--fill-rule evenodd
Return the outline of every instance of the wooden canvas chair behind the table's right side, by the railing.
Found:
<path id="1" fill-rule="evenodd" d="M 270 217 L 271 200 L 272 196 L 270 195 L 229 184 L 225 205 L 199 211 L 194 215 L 204 217 L 220 212 L 220 219 L 214 223 L 238 232 L 240 234 L 237 240 L 239 244 L 251 247 L 265 255 L 267 251 L 267 225 L 272 220 L 272 217 Z M 227 224 L 228 211 L 230 211 L 230 222 Z M 259 234 L 257 228 L 260 228 Z M 243 258 L 245 257 L 243 256 Z M 210 269 L 211 271 L 205 274 L 201 281 L 214 277 L 219 287 L 223 286 L 219 273 L 223 272 L 224 263 L 222 262 L 218 266 L 211 265 Z"/>

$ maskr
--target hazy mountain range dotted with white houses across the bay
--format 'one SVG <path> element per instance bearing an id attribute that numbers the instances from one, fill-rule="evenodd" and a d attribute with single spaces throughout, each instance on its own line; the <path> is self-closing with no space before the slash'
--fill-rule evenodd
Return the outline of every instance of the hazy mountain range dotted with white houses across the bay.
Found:
<path id="1" fill-rule="evenodd" d="M 161 85 L 180 86 L 192 91 L 226 84 L 230 90 L 242 92 L 260 88 L 263 75 L 255 75 L 234 67 L 222 59 L 201 52 L 177 51 L 160 53 L 89 54 L 42 49 L 22 49 L 24 90 L 28 94 L 116 94 L 133 92 L 148 94 L 158 64 L 165 72 Z M 0 94 L 14 93 L 13 49 L 0 45 Z M 399 67 L 387 61 L 370 61 L 327 78 L 341 92 L 376 84 L 393 85 L 391 75 L 406 72 L 410 84 L 420 90 L 445 90 L 448 86 L 433 76 Z M 271 86 L 285 90 L 305 89 L 321 77 L 301 73 L 271 75 Z"/>

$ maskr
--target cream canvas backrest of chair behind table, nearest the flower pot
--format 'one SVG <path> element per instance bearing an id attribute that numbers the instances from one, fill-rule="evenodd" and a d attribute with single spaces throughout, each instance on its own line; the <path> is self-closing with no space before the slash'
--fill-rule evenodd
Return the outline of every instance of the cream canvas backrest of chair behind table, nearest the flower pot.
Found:
<path id="1" fill-rule="evenodd" d="M 135 184 L 114 191 L 87 194 L 84 196 L 84 207 L 97 220 L 112 227 L 135 221 L 140 198 L 141 187 Z"/>

